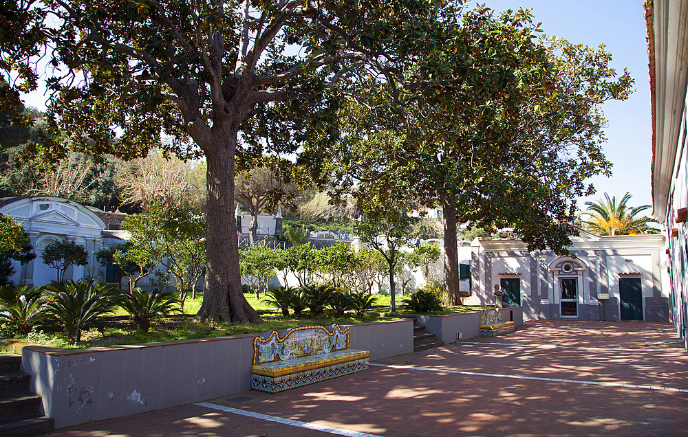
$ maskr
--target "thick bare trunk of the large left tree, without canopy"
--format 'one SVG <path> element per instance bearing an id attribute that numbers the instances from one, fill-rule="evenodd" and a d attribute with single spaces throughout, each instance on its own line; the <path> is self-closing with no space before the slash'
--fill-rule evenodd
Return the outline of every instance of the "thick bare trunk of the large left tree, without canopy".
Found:
<path id="1" fill-rule="evenodd" d="M 204 148 L 208 164 L 206 291 L 194 320 L 249 324 L 262 322 L 244 298 L 244 293 L 241 293 L 239 241 L 233 223 L 234 153 L 238 126 L 238 122 L 227 130 L 213 126 L 213 144 Z"/>

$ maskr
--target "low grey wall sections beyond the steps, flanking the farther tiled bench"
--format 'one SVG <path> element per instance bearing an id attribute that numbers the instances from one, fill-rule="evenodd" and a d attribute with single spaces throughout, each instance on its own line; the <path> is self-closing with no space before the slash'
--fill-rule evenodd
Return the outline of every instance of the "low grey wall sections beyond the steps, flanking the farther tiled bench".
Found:
<path id="1" fill-rule="evenodd" d="M 523 307 L 509 306 L 502 309 L 505 322 L 513 321 L 516 326 L 523 324 Z M 480 311 L 450 315 L 418 315 L 418 324 L 436 335 L 444 343 L 454 343 L 460 339 L 480 335 Z"/>

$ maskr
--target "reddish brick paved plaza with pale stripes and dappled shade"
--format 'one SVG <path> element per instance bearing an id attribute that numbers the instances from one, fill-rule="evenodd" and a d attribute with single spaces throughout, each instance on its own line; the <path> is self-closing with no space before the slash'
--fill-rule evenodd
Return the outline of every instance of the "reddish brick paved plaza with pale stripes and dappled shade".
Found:
<path id="1" fill-rule="evenodd" d="M 526 322 L 515 334 L 374 361 L 279 394 L 244 392 L 51 435 L 686 435 L 688 354 L 645 346 L 675 338 L 662 323 Z"/>

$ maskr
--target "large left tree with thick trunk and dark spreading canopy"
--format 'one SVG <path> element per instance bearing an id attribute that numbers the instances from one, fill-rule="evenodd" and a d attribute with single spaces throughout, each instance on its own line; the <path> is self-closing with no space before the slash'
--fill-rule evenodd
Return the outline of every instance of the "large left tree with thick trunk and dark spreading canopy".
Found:
<path id="1" fill-rule="evenodd" d="M 257 322 L 239 281 L 235 156 L 291 152 L 327 124 L 342 92 L 391 80 L 425 49 L 437 12 L 451 13 L 441 3 L 7 0 L 0 104 L 16 106 L 18 91 L 36 87 L 45 51 L 45 157 L 87 149 L 130 159 L 155 147 L 204 155 L 207 291 L 197 315 Z"/>

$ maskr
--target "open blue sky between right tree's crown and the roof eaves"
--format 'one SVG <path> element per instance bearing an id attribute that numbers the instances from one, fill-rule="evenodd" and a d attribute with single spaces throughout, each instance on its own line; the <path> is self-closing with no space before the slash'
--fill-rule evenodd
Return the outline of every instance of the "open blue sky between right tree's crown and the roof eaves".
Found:
<path id="1" fill-rule="evenodd" d="M 632 205 L 652 203 L 652 117 L 645 16 L 641 0 L 482 0 L 495 10 L 532 8 L 535 23 L 542 22 L 546 34 L 571 43 L 596 47 L 604 44 L 614 58 L 616 71 L 627 68 L 636 80 L 636 91 L 625 102 L 609 102 L 603 110 L 609 120 L 605 128 L 605 154 L 614 164 L 612 177 L 594 177 L 597 190 L 617 197 L 629 191 Z M 583 207 L 581 199 L 579 208 Z"/>

